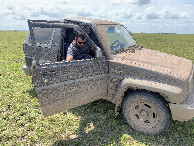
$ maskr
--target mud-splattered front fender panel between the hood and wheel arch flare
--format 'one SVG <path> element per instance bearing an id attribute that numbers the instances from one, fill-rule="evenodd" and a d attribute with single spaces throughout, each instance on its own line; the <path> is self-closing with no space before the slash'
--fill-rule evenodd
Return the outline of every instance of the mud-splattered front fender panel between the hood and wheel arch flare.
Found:
<path id="1" fill-rule="evenodd" d="M 180 93 L 178 95 L 171 94 L 168 96 L 166 100 L 172 103 L 174 102 L 181 103 L 185 100 L 185 91 L 183 89 L 186 89 L 187 84 L 184 80 L 175 78 L 168 74 L 162 74 L 159 71 L 153 71 L 153 70 L 147 69 L 147 67 L 148 65 L 143 63 L 139 64 L 136 61 L 121 60 L 121 59 L 111 60 L 109 63 L 109 74 L 110 74 L 110 81 L 108 86 L 109 100 L 113 100 L 113 98 L 115 97 L 115 95 L 119 90 L 118 87 L 120 83 L 125 78 L 138 79 L 142 81 L 145 80 L 150 83 L 151 82 L 161 83 L 168 86 L 177 87 L 177 89 L 180 89 Z M 137 85 L 137 87 L 131 87 L 131 88 L 139 89 L 139 86 Z"/>

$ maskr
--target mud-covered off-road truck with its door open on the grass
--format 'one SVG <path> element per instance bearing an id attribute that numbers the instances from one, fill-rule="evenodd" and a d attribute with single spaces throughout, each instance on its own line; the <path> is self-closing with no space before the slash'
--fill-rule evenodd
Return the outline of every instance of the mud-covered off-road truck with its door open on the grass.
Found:
<path id="1" fill-rule="evenodd" d="M 68 18 L 28 20 L 23 70 L 32 75 L 45 117 L 99 99 L 115 104 L 136 131 L 158 135 L 171 118 L 194 117 L 192 61 L 139 46 L 116 22 Z M 90 28 L 90 34 L 83 27 Z M 92 59 L 66 61 L 67 48 L 81 31 Z"/>

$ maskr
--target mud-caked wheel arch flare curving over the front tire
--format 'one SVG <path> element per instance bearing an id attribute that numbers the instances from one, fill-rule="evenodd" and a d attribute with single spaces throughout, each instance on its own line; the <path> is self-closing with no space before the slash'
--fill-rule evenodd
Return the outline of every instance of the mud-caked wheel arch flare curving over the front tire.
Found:
<path id="1" fill-rule="evenodd" d="M 182 92 L 182 90 L 174 86 L 162 83 L 155 83 L 153 81 L 126 78 L 119 84 L 116 94 L 113 98 L 113 101 L 116 104 L 116 114 L 118 114 L 122 101 L 126 97 L 126 95 L 133 92 L 152 93 L 162 98 L 167 103 L 174 103 L 175 101 L 173 96 L 175 96 L 176 98 L 177 94 Z"/>

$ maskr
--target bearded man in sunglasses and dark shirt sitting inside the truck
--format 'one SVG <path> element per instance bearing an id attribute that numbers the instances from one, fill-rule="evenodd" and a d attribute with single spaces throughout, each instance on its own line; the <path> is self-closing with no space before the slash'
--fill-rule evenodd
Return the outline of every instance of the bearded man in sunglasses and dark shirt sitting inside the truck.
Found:
<path id="1" fill-rule="evenodd" d="M 94 47 L 89 46 L 86 38 L 81 32 L 76 32 L 75 40 L 69 45 L 67 50 L 67 61 L 91 59 Z"/>

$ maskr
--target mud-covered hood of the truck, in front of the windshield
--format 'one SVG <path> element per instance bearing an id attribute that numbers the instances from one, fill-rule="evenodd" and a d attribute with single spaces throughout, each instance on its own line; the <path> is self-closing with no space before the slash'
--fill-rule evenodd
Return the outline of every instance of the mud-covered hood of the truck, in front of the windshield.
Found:
<path id="1" fill-rule="evenodd" d="M 117 54 L 113 61 L 152 70 L 181 80 L 188 80 L 193 66 L 192 61 L 185 58 L 145 48 Z"/>

